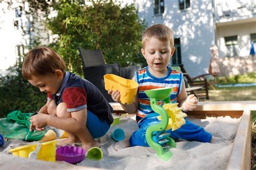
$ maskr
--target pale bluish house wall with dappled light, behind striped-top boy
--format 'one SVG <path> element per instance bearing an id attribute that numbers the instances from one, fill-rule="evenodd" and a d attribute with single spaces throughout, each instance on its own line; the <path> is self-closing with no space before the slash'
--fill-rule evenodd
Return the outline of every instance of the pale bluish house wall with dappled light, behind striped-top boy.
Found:
<path id="1" fill-rule="evenodd" d="M 178 1 L 165 1 L 165 12 L 153 15 L 153 1 L 136 1 L 139 17 L 147 25 L 165 24 L 173 29 L 174 38 L 180 38 L 181 59 L 192 76 L 206 73 L 214 43 L 212 1 L 191 1 L 191 8 L 180 11 Z"/>

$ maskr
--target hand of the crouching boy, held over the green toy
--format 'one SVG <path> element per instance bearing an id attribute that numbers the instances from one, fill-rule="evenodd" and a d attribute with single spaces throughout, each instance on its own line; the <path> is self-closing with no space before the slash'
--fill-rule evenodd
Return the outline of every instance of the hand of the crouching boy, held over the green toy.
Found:
<path id="1" fill-rule="evenodd" d="M 38 113 L 33 115 L 30 118 L 30 127 L 29 130 L 32 131 L 35 129 L 36 131 L 43 131 L 45 126 L 47 125 L 47 114 Z"/>

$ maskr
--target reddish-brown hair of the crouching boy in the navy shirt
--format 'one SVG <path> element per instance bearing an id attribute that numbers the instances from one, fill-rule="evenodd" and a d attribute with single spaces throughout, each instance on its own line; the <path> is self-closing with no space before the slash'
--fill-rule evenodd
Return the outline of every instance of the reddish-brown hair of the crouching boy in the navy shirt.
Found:
<path id="1" fill-rule="evenodd" d="M 32 76 L 42 76 L 55 70 L 65 71 L 65 62 L 50 47 L 41 46 L 26 53 L 22 65 L 22 76 L 29 80 Z"/>

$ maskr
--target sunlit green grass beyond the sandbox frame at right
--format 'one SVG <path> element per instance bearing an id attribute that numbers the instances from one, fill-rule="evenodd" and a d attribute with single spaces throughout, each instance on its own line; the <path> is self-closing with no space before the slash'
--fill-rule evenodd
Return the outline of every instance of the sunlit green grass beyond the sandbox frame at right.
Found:
<path id="1" fill-rule="evenodd" d="M 221 85 L 237 83 L 256 83 L 256 73 L 248 73 L 241 76 L 218 78 Z M 256 103 L 256 86 L 247 87 L 215 87 L 216 90 L 209 90 L 211 101 L 248 101 Z M 252 157 L 251 169 L 256 169 L 256 111 L 252 113 Z"/>

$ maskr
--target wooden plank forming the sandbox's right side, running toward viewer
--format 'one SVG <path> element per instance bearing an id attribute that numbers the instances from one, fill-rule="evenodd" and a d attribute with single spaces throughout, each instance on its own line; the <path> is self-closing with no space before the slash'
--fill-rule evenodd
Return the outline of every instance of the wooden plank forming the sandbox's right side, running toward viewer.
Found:
<path id="1" fill-rule="evenodd" d="M 251 169 L 251 111 L 245 110 L 226 169 Z"/>

